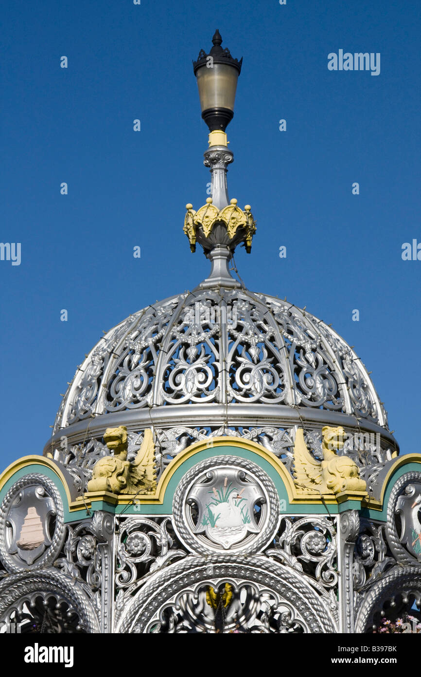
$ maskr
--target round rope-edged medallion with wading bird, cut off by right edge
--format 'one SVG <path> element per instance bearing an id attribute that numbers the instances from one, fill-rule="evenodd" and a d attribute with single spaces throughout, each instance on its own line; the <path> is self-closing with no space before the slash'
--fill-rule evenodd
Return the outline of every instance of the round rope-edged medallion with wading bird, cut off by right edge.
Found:
<path id="1" fill-rule="evenodd" d="M 386 536 L 397 561 L 421 564 L 421 473 L 399 477 L 387 505 Z"/>

